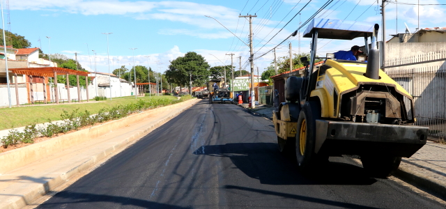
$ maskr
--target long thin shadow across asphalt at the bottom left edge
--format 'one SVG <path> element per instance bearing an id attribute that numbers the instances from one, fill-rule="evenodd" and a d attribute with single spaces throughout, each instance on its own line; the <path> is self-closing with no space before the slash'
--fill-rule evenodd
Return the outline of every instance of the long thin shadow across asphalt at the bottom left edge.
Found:
<path id="1" fill-rule="evenodd" d="M 65 191 L 57 193 L 52 199 L 50 199 L 50 201 L 43 203 L 38 208 L 66 208 L 66 204 L 68 203 L 70 204 L 68 208 L 84 208 L 86 205 L 83 203 L 93 202 L 98 203 L 97 208 L 107 208 L 107 203 L 120 204 L 121 206 L 128 206 L 129 208 L 185 208 L 124 196 L 110 196 L 105 194 L 87 194 Z M 73 203 L 79 204 L 75 205 Z"/>

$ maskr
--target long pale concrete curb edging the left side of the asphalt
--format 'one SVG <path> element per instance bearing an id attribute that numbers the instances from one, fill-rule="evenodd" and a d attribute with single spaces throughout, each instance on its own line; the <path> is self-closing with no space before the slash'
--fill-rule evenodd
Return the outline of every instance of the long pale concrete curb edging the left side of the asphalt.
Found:
<path id="1" fill-rule="evenodd" d="M 100 162 L 100 160 L 105 159 L 111 153 L 115 153 L 116 150 L 120 150 L 120 149 L 123 150 L 125 148 L 125 146 L 128 146 L 128 144 L 130 144 L 130 142 L 140 139 L 141 137 L 144 137 L 146 134 L 152 132 L 157 127 L 160 127 L 167 121 L 170 121 L 172 118 L 175 118 L 176 116 L 178 116 L 180 113 L 182 113 L 186 109 L 189 109 L 197 102 L 199 102 L 199 100 L 188 100 L 185 102 L 178 103 L 178 104 L 187 105 L 187 107 L 185 107 L 185 109 L 180 109 L 180 110 L 175 111 L 171 115 L 167 116 L 167 118 L 163 118 L 162 120 L 155 122 L 153 125 L 150 125 L 149 127 L 147 127 L 146 129 L 144 129 L 142 131 L 134 132 L 130 137 L 123 139 L 118 144 L 114 144 L 113 146 L 110 146 L 109 148 L 103 150 L 102 152 L 91 156 L 89 158 L 89 160 L 86 160 L 85 162 L 82 162 L 81 164 L 73 164 L 71 169 L 69 169 L 68 171 L 66 171 L 64 173 L 60 173 L 55 178 L 51 178 L 49 180 L 46 180 L 43 183 L 40 183 L 39 185 L 33 186 L 31 188 L 27 188 L 26 194 L 21 194 L 20 196 L 12 196 L 8 200 L 7 203 L 4 203 L 4 202 L 0 203 L 0 209 L 22 208 L 22 207 L 28 205 L 28 203 L 31 203 L 33 200 L 38 199 L 40 196 L 43 196 L 47 192 L 51 191 L 52 189 L 58 187 L 59 185 L 62 185 L 70 177 L 74 176 L 75 174 L 81 173 L 82 171 L 86 171 L 87 169 L 90 169 L 97 162 Z M 171 108 L 174 105 L 176 105 L 176 104 L 169 105 L 167 107 Z M 178 105 L 176 105 L 176 106 L 178 106 Z M 160 109 L 165 109 L 165 108 L 161 107 Z M 141 113 L 141 114 L 144 114 L 144 113 Z M 120 120 L 124 120 L 124 119 L 125 118 L 121 118 Z M 117 121 L 120 121 L 120 120 L 117 120 Z M 112 121 L 112 122 L 115 122 L 115 121 Z M 138 121 L 133 121 L 133 122 L 137 123 Z M 105 123 L 102 125 L 114 126 L 113 124 L 109 124 L 109 123 Z M 73 132 L 71 134 L 75 134 L 75 133 L 76 132 Z"/>

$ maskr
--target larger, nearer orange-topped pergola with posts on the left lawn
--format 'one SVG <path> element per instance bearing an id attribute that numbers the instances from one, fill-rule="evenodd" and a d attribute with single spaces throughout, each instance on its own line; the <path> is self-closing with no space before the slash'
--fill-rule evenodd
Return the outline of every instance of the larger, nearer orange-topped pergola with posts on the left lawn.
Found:
<path id="1" fill-rule="evenodd" d="M 34 104 L 34 97 L 33 97 L 33 76 L 34 77 L 53 77 L 54 78 L 54 99 L 56 104 L 59 104 L 59 93 L 57 91 L 57 75 L 66 75 L 67 77 L 67 93 L 68 93 L 68 103 L 71 102 L 70 100 L 70 79 L 68 79 L 68 75 L 76 75 L 77 78 L 77 95 L 78 95 L 78 101 L 80 102 L 81 98 L 81 90 L 79 86 L 79 76 L 84 76 L 86 80 L 86 101 L 89 101 L 89 72 L 79 71 L 79 70 L 70 70 L 66 68 L 56 68 L 56 67 L 45 67 L 45 68 L 10 68 L 9 70 L 13 71 L 14 78 L 15 78 L 15 97 L 17 100 L 17 106 L 19 106 L 19 88 L 17 84 L 17 74 L 26 75 L 29 77 L 30 80 L 30 91 L 31 91 L 31 104 Z M 46 93 L 46 83 L 47 79 L 43 81 L 43 97 L 44 97 L 44 103 L 47 103 L 47 93 Z"/>

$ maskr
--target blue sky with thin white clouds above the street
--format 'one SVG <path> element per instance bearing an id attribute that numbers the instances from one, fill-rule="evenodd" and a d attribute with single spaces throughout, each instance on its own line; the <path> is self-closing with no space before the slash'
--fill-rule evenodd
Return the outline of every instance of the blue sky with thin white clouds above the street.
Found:
<path id="1" fill-rule="evenodd" d="M 330 1 L 316 17 L 381 24 L 381 0 Z M 330 1 L 9 0 L 9 12 L 6 4 L 3 8 L 10 18 L 7 30 L 24 36 L 32 47 L 40 47 L 44 53 L 65 54 L 74 59 L 77 52 L 79 63 L 91 72 L 112 72 L 120 65 L 144 65 L 164 72 L 169 61 L 187 52 L 201 54 L 211 66 L 231 65 L 231 56 L 226 54 L 235 54 L 236 70 L 241 56 L 242 69 L 249 71 L 249 20 L 238 17 L 240 14 L 257 15 L 252 18 L 253 51 L 257 58 L 279 45 Z M 412 33 L 419 25 L 446 26 L 446 5 L 407 3 L 417 4 L 418 0 L 392 0 L 385 6 L 386 40 L 397 32 L 404 33 L 405 23 Z M 446 4 L 446 0 L 420 3 Z M 306 26 L 302 26 L 300 34 Z M 111 33 L 108 41 L 102 33 Z M 289 42 L 293 53 L 309 53 L 310 39 L 291 37 L 276 48 L 277 57 L 289 54 Z M 364 45 L 364 38 L 320 39 L 318 54 L 349 50 L 353 45 Z M 274 54 L 268 52 L 255 60 L 254 69 L 259 68 L 261 73 L 273 60 Z"/>

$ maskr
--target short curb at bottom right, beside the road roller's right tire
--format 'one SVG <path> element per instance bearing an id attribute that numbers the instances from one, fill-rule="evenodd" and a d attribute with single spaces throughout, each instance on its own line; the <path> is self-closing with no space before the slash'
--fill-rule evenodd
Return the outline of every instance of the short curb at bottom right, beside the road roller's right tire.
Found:
<path id="1" fill-rule="evenodd" d="M 441 183 L 433 178 L 423 176 L 420 173 L 405 167 L 401 167 L 401 165 L 399 166 L 398 170 L 393 173 L 393 176 L 405 181 L 406 183 L 409 183 L 410 185 L 414 185 L 415 187 L 426 189 L 429 192 L 434 192 L 440 195 L 441 198 L 446 199 L 445 183 Z"/>

